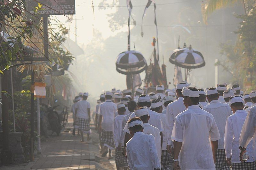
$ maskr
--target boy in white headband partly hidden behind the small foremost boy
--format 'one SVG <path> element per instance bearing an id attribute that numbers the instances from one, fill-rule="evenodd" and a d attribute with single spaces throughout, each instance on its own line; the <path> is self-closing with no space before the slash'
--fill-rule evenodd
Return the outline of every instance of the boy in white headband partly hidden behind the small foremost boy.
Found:
<path id="1" fill-rule="evenodd" d="M 161 146 L 162 145 L 161 145 L 160 132 L 156 127 L 154 127 L 148 123 L 150 116 L 148 114 L 147 107 L 140 107 L 138 110 L 135 110 L 134 113 L 135 113 L 135 116 L 139 117 L 141 119 L 141 121 L 143 122 L 143 133 L 151 134 L 155 137 L 157 156 L 158 156 L 159 162 L 161 162 L 161 156 L 162 156 L 162 147 Z"/>

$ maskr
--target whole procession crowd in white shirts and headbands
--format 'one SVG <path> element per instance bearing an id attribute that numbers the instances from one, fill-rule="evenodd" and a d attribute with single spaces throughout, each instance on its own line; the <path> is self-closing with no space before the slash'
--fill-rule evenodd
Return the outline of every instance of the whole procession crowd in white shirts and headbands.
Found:
<path id="1" fill-rule="evenodd" d="M 175 89 L 144 87 L 134 94 L 115 88 L 100 95 L 95 109 L 102 157 L 117 170 L 255 170 L 256 92 L 238 83 L 197 89 L 186 81 Z M 151 89 L 152 91 L 152 89 Z M 72 106 L 74 130 L 90 138 L 88 93 Z"/>

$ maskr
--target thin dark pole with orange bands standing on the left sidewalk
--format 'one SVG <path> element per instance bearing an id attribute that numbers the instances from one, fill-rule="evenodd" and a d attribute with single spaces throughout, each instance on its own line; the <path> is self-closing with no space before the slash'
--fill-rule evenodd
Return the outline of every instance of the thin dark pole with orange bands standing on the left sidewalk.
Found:
<path id="1" fill-rule="evenodd" d="M 31 93 L 30 93 L 30 161 L 34 161 L 34 68 L 31 62 Z"/>

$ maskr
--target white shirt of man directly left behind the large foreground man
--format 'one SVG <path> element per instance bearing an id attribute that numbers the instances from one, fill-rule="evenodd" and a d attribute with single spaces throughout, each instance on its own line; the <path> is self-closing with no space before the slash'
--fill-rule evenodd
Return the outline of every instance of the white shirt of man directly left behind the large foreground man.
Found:
<path id="1" fill-rule="evenodd" d="M 167 144 L 168 145 L 171 145 L 171 142 L 172 142 L 171 136 L 172 136 L 172 129 L 173 129 L 175 117 L 186 109 L 187 108 L 183 103 L 183 97 L 179 97 L 178 100 L 168 104 L 166 109 L 166 121 L 167 121 L 166 124 L 167 124 L 167 133 L 168 133 Z"/>

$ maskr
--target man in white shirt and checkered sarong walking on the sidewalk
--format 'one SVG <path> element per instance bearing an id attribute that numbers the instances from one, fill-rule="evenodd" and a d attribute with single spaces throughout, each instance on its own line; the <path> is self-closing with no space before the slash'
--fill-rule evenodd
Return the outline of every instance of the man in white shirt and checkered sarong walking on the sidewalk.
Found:
<path id="1" fill-rule="evenodd" d="M 79 130 L 82 137 L 81 142 L 84 142 L 84 133 L 87 133 L 87 141 L 91 139 L 90 138 L 91 106 L 90 106 L 90 103 L 86 101 L 88 98 L 88 93 L 83 93 L 82 97 L 83 97 L 83 100 L 78 101 L 76 104 L 75 117 L 78 118 Z"/>

